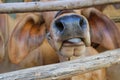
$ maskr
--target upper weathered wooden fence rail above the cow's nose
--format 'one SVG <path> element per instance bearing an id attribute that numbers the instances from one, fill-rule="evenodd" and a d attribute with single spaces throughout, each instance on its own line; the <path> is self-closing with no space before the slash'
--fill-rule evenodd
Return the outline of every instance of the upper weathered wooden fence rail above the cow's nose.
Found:
<path id="1" fill-rule="evenodd" d="M 120 0 L 58 0 L 49 2 L 1 3 L 0 13 L 55 11 L 116 3 L 120 3 Z"/>

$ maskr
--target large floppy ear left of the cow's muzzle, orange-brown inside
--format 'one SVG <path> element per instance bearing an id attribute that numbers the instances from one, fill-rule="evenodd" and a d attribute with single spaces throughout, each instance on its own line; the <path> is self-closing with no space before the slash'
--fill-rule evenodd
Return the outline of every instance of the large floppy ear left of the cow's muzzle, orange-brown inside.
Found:
<path id="1" fill-rule="evenodd" d="M 8 45 L 12 63 L 21 62 L 30 51 L 41 45 L 45 37 L 45 27 L 42 22 L 40 14 L 26 14 L 17 21 Z"/>

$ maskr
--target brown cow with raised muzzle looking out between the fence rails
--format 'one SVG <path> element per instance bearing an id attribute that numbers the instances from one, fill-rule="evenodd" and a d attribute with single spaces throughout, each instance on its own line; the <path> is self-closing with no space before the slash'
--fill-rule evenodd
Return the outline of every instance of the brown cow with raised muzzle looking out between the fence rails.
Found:
<path id="1" fill-rule="evenodd" d="M 36 58 L 40 59 L 37 63 L 44 65 L 91 56 L 97 54 L 100 47 L 119 47 L 119 31 L 114 22 L 95 8 L 25 14 L 10 32 L 7 56 L 13 64 L 22 66 L 24 63 L 25 66 L 35 65 Z M 72 79 L 106 80 L 105 70 Z"/>

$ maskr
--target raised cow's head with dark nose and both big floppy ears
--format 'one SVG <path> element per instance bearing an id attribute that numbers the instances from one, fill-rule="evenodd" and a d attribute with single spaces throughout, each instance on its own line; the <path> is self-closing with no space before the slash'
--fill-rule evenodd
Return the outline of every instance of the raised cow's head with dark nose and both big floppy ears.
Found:
<path id="1" fill-rule="evenodd" d="M 38 48 L 45 37 L 59 55 L 67 58 L 82 55 L 91 42 L 107 49 L 120 46 L 116 45 L 120 41 L 113 21 L 94 8 L 42 12 L 37 16 L 27 14 L 10 37 L 11 61 L 19 63 Z"/>

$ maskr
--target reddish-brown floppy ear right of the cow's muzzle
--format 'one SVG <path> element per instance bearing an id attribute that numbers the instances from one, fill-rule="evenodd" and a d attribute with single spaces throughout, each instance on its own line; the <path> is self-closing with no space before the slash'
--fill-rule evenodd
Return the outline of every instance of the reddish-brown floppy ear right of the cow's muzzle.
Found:
<path id="1" fill-rule="evenodd" d="M 106 15 L 95 8 L 82 10 L 90 25 L 91 41 L 106 49 L 120 47 L 119 28 Z"/>

